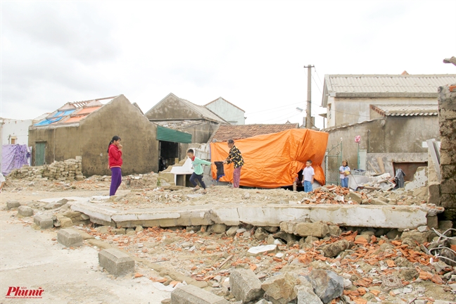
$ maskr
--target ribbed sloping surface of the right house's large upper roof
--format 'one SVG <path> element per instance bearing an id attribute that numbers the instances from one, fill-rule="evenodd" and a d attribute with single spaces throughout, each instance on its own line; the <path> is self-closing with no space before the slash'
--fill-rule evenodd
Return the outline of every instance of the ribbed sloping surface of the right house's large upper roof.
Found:
<path id="1" fill-rule="evenodd" d="M 437 93 L 437 88 L 456 82 L 456 75 L 328 75 L 329 92 Z"/>

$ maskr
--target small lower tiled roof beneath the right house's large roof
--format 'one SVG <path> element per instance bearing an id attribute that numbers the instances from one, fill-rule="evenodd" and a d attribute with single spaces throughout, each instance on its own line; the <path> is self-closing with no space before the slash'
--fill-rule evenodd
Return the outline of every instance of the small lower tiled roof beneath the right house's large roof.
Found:
<path id="1" fill-rule="evenodd" d="M 433 116 L 438 114 L 436 104 L 371 105 L 371 108 L 384 116 Z"/>

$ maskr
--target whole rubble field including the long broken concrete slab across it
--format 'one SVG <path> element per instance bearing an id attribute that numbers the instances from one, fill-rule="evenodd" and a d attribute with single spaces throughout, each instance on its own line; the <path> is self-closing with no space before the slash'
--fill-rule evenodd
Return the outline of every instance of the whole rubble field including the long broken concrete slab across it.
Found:
<path id="1" fill-rule="evenodd" d="M 455 298 L 452 222 L 438 220 L 443 208 L 414 196 L 418 188 L 353 191 L 327 185 L 304 194 L 215 186 L 189 197 L 191 189 L 158 186 L 159 179 L 128 177 L 111 198 L 103 196 L 109 177 L 12 182 L 7 191 L 93 192 L 10 201 L 5 210 L 36 229 L 55 230 L 65 247 L 97 248 L 107 275 L 146 277 L 170 291 L 168 303 Z M 20 217 L 21 206 L 32 209 L 32 221 Z M 123 259 L 128 266 L 118 267 Z"/>

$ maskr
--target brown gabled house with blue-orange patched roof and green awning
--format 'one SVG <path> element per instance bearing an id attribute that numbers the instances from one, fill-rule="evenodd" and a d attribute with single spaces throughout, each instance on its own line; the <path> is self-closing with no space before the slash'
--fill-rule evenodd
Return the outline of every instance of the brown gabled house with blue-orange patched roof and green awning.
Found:
<path id="1" fill-rule="evenodd" d="M 106 150 L 118 135 L 122 174 L 158 171 L 159 142 L 191 142 L 191 134 L 160 127 L 123 96 L 65 103 L 29 129 L 32 165 L 82 156 L 82 173 L 109 175 Z"/>

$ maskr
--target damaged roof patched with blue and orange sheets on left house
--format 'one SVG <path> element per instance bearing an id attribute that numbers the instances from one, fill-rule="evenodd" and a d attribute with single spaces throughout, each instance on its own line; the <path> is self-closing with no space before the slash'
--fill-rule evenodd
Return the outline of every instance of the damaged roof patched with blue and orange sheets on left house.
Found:
<path id="1" fill-rule="evenodd" d="M 110 101 L 113 97 L 103 97 L 101 99 L 92 99 L 89 101 L 75 101 L 71 103 L 65 103 L 58 110 L 53 111 L 46 118 L 40 120 L 34 126 L 42 127 L 48 125 L 67 125 L 70 123 L 80 122 L 87 117 L 90 113 L 94 113 L 99 110 L 103 103 L 101 101 Z"/>

